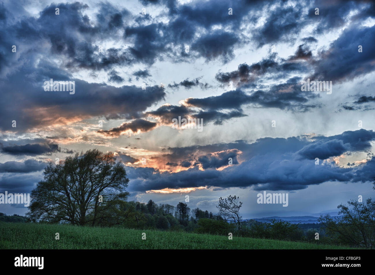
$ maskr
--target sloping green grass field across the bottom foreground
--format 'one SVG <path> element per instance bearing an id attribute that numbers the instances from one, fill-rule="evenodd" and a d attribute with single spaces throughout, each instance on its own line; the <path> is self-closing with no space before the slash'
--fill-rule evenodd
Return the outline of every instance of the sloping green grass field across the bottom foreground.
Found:
<path id="1" fill-rule="evenodd" d="M 60 233 L 60 240 L 55 233 Z M 142 240 L 142 233 L 146 239 Z M 0 249 L 351 249 L 185 232 L 0 222 Z"/>

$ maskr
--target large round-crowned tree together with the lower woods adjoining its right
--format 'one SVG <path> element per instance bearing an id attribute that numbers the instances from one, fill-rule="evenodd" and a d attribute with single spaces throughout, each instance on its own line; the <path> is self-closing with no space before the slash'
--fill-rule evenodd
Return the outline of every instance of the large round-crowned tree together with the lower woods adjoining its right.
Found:
<path id="1" fill-rule="evenodd" d="M 187 227 L 200 218 L 220 219 L 199 208 L 190 210 L 186 203 L 157 206 L 127 202 L 129 179 L 121 162 L 112 152 L 98 149 L 67 157 L 64 163 L 49 163 L 44 178 L 31 192 L 27 216 L 31 221 L 70 223 L 73 225 L 136 227 L 155 226 L 166 229 L 173 219 Z M 169 224 L 169 225 L 168 225 Z"/>

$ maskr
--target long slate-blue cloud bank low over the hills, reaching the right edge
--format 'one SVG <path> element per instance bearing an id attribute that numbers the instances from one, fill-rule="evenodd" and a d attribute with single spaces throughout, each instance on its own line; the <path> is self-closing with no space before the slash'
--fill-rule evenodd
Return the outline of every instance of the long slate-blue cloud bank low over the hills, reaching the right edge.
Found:
<path id="1" fill-rule="evenodd" d="M 365 140 L 365 141 L 362 141 Z M 370 140 L 375 139 L 372 130 L 347 131 L 335 136 L 318 136 L 314 140 L 305 137 L 263 138 L 254 143 L 242 141 L 220 143 L 208 146 L 190 146 L 184 148 L 168 148 L 172 152 L 171 159 L 189 157 L 196 151 L 221 148 L 233 148 L 243 152 L 241 164 L 232 165 L 224 170 L 216 170 L 221 164 L 228 164 L 226 158 L 215 159 L 202 157 L 201 161 L 207 169 L 198 167 L 177 173 L 159 172 L 153 168 L 127 167 L 133 191 L 159 190 L 162 188 L 183 187 L 249 187 L 255 190 L 299 190 L 308 185 L 323 182 L 366 182 L 372 180 L 375 169 L 375 158 L 356 167 L 340 167 L 334 162 L 315 165 L 312 159 L 314 152 L 321 157 L 332 157 L 346 150 L 368 149 Z M 318 149 L 320 148 L 320 149 Z M 320 151 L 322 150 L 323 153 Z M 301 156 L 303 158 L 301 158 Z M 219 162 L 217 162 L 219 161 Z M 175 161 L 174 161 L 175 162 Z"/>

